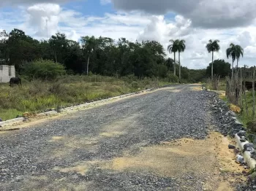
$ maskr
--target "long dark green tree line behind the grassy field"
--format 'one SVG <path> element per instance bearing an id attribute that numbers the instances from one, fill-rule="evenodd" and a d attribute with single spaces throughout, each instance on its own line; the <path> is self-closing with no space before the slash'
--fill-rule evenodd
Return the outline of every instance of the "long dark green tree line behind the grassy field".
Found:
<path id="1" fill-rule="evenodd" d="M 140 79 L 169 77 L 173 81 L 189 82 L 208 77 L 206 69 L 193 70 L 181 66 L 180 55 L 186 48 L 182 39 L 170 41 L 172 44 L 167 51 L 174 52 L 172 59 L 167 58 L 165 47 L 157 41 L 130 42 L 125 38 L 116 41 L 103 36 L 81 36 L 79 42 L 75 42 L 59 32 L 48 40 L 39 41 L 17 28 L 10 33 L 1 31 L 0 37 L 0 64 L 14 65 L 18 74 L 29 63 L 40 59 L 60 63 L 67 74 L 134 75 Z M 217 51 L 215 47 L 210 48 Z"/>

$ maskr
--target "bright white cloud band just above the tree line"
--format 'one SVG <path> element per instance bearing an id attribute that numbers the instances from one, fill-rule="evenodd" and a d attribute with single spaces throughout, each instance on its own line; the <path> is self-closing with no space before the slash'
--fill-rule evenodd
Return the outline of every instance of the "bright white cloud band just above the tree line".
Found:
<path id="1" fill-rule="evenodd" d="M 4 19 L 1 19 L 4 17 Z M 8 15 L 8 17 L 6 16 Z M 148 15 L 142 12 L 105 13 L 85 16 L 72 9 L 62 9 L 59 4 L 37 4 L 19 12 L 0 12 L 1 28 L 7 31 L 20 28 L 26 34 L 37 39 L 46 39 L 46 22 L 48 19 L 48 36 L 56 31 L 65 33 L 68 39 L 78 40 L 80 36 L 108 36 L 113 39 L 125 37 L 129 40 L 157 40 L 165 48 L 170 39 L 185 39 L 187 49 L 181 53 L 181 64 L 191 69 L 206 68 L 211 62 L 211 54 L 206 51 L 209 39 L 219 39 L 221 50 L 214 53 L 214 58 L 225 59 L 225 50 L 230 42 L 244 47 L 244 58 L 241 65 L 254 65 L 256 59 L 256 27 L 239 27 L 229 29 L 195 28 L 192 20 L 176 15 L 174 20 L 163 15 Z M 13 20 L 18 21 L 12 23 Z M 173 54 L 168 54 L 173 58 Z M 176 57 L 177 58 L 177 57 Z"/>

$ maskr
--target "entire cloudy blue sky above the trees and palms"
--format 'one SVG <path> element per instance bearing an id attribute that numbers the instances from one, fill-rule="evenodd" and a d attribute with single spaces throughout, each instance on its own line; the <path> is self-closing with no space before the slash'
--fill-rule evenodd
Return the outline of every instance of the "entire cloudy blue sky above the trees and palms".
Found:
<path id="1" fill-rule="evenodd" d="M 102 4 L 102 1 L 108 3 Z M 239 7 L 236 7 L 236 0 L 229 0 L 228 6 L 222 0 L 215 0 L 215 5 L 211 0 L 194 0 L 193 3 L 188 0 L 102 1 L 0 2 L 0 29 L 19 28 L 36 39 L 47 39 L 47 31 L 48 36 L 60 31 L 75 41 L 86 35 L 125 37 L 132 41 L 157 40 L 164 47 L 169 39 L 182 38 L 186 40 L 187 49 L 181 54 L 181 64 L 192 69 L 205 68 L 210 63 L 206 43 L 209 39 L 219 39 L 221 50 L 215 58 L 227 60 L 225 50 L 233 42 L 244 47 L 241 64 L 252 66 L 255 62 L 256 12 L 252 8 L 256 7 L 256 1 L 244 0 Z M 45 20 L 48 20 L 48 28 Z M 168 56 L 173 58 L 173 55 Z"/>

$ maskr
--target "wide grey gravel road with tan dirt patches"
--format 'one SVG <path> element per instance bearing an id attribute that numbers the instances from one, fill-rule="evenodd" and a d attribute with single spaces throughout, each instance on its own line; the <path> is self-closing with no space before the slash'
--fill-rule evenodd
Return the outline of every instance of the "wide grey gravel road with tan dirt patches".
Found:
<path id="1" fill-rule="evenodd" d="M 1 133 L 0 190 L 206 190 L 214 171 L 204 166 L 214 157 L 192 162 L 170 147 L 208 136 L 213 94 L 195 87 L 165 87 Z"/>

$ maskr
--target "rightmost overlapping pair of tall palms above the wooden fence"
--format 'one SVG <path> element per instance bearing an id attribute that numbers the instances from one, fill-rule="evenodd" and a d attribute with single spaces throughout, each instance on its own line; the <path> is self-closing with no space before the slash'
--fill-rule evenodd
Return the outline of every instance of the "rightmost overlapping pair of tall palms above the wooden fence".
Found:
<path id="1" fill-rule="evenodd" d="M 244 56 L 244 50 L 240 45 L 235 45 L 233 43 L 230 44 L 230 47 L 226 50 L 227 58 L 232 58 L 232 77 L 234 77 L 234 62 L 237 60 L 237 69 L 238 69 L 238 61 L 240 57 Z"/>

